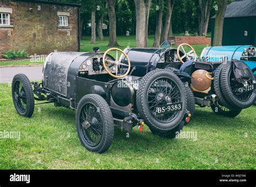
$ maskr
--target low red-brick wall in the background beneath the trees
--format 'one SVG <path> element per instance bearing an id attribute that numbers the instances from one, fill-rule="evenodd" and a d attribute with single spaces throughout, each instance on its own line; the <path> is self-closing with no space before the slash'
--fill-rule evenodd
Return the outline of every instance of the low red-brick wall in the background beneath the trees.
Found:
<path id="1" fill-rule="evenodd" d="M 180 45 L 182 43 L 211 45 L 211 38 L 206 37 L 168 37 L 168 40 L 175 40 L 174 45 Z"/>

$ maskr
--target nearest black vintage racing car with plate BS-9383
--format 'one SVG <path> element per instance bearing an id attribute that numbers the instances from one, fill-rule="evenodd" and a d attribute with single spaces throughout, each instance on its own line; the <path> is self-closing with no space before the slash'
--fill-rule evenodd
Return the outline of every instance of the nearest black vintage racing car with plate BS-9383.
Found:
<path id="1" fill-rule="evenodd" d="M 116 58 L 109 54 L 113 51 Z M 125 61 L 118 57 L 120 52 Z M 110 147 L 113 124 L 128 131 L 136 125 L 142 131 L 146 124 L 152 133 L 174 138 L 190 121 L 188 87 L 169 69 L 132 75 L 136 63 L 140 64 L 131 64 L 118 48 L 104 54 L 51 53 L 45 60 L 41 83 L 30 82 L 24 74 L 14 76 L 15 109 L 25 117 L 32 116 L 35 104 L 54 103 L 76 110 L 78 137 L 92 152 L 103 153 Z"/>

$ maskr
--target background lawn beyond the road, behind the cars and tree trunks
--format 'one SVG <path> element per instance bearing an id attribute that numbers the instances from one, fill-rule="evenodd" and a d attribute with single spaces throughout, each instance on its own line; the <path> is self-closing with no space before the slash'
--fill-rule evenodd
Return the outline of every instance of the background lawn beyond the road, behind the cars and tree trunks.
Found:
<path id="1" fill-rule="evenodd" d="M 118 44 L 120 45 L 120 49 L 124 49 L 127 46 L 130 47 L 136 47 L 136 36 L 135 35 L 130 35 L 129 37 L 127 36 L 117 36 L 117 41 Z M 149 35 L 149 47 L 152 47 L 154 42 L 154 35 Z M 109 37 L 105 37 L 104 41 L 96 41 L 95 44 L 91 44 L 91 37 L 86 36 L 83 37 L 81 40 L 81 45 L 80 45 L 80 51 L 82 52 L 91 52 L 93 47 L 99 47 L 100 51 L 106 51 L 107 49 L 111 47 L 107 47 L 107 44 L 109 44 Z M 201 51 L 203 51 L 203 48 L 206 45 L 192 45 L 197 53 L 198 56 L 200 56 Z M 173 47 L 178 47 L 178 46 L 173 46 Z M 0 67 L 1 66 L 18 66 L 18 65 L 38 65 L 38 64 L 43 64 L 44 62 L 30 62 L 30 60 L 25 60 L 25 61 L 11 61 L 11 62 L 0 62 Z"/>

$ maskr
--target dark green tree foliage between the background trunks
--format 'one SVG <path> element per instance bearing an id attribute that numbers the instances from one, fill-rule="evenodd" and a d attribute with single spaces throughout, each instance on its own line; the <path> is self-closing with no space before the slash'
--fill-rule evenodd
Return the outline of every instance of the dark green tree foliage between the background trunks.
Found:
<path id="1" fill-rule="evenodd" d="M 58 0 L 56 0 L 58 1 Z M 83 18 L 83 34 L 90 35 L 91 30 L 88 26 L 91 23 L 91 6 L 93 4 L 101 5 L 101 0 L 60 0 L 62 2 L 71 2 L 71 3 L 81 3 L 82 7 L 80 9 L 81 18 Z M 103 0 L 106 1 L 106 0 Z M 203 0 L 206 1 L 206 0 Z M 217 5 L 218 0 L 212 0 L 211 10 L 210 10 L 210 20 L 208 23 L 207 32 L 211 32 L 211 17 L 216 14 L 215 6 Z M 165 0 L 165 6 L 167 1 Z M 228 0 L 228 4 L 233 2 L 233 0 Z M 157 19 L 157 10 L 156 6 L 158 5 L 158 0 L 152 0 L 150 15 L 149 15 L 149 34 L 156 33 L 156 19 Z M 109 28 L 109 18 L 107 16 L 107 7 L 104 15 L 103 23 Z M 116 0 L 115 4 L 116 11 L 116 23 L 117 23 L 117 35 L 129 35 L 136 34 L 136 8 L 134 1 L 127 0 Z M 165 23 L 165 15 L 167 9 L 163 11 L 163 24 Z M 96 11 L 96 20 L 100 12 Z M 200 7 L 199 0 L 176 0 L 172 10 L 172 30 L 173 33 L 180 34 L 199 34 L 199 18 L 200 17 Z M 97 22 L 97 21 L 96 21 Z M 96 23 L 97 24 L 97 23 Z M 103 30 L 104 35 L 109 35 L 109 29 Z"/>

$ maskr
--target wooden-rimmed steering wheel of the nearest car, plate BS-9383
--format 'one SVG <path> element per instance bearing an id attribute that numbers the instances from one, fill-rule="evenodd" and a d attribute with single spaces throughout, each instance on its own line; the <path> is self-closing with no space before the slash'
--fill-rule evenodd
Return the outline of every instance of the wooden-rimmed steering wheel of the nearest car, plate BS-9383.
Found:
<path id="1" fill-rule="evenodd" d="M 106 59 L 106 54 L 107 53 L 109 53 L 110 51 L 114 51 L 114 50 L 116 50 L 116 60 L 109 60 L 109 59 Z M 121 52 L 121 53 L 123 53 L 123 55 L 126 57 L 126 59 L 127 59 L 127 62 L 128 62 L 128 64 L 125 64 L 125 63 L 123 63 L 121 60 L 122 59 L 120 59 L 120 60 L 118 60 L 118 51 L 119 52 Z M 106 61 L 107 62 L 110 62 L 111 64 L 106 64 Z M 104 53 L 104 55 L 103 55 L 103 66 L 104 66 L 104 68 L 105 68 L 105 70 L 106 70 L 106 72 L 110 75 L 110 76 L 112 76 L 112 77 L 114 77 L 114 78 L 123 78 L 123 77 L 125 77 L 126 75 L 128 75 L 129 74 L 129 71 L 130 71 L 130 69 L 131 69 L 131 62 L 130 62 L 130 59 L 129 59 L 129 57 L 125 54 L 125 52 L 123 52 L 121 49 L 118 49 L 118 48 L 110 48 L 110 49 L 107 49 L 107 51 Z M 114 68 L 112 68 L 114 66 Z M 123 71 L 120 71 L 120 66 L 126 66 L 126 67 L 128 67 L 128 69 L 126 70 L 126 72 L 124 73 L 124 74 L 121 74 L 121 72 L 123 73 Z M 116 71 L 116 75 L 114 75 L 114 74 L 112 74 L 111 73 L 111 71 L 109 70 L 110 68 L 112 68 L 113 70 L 115 70 Z M 118 74 L 118 70 L 119 70 L 119 74 Z"/>

